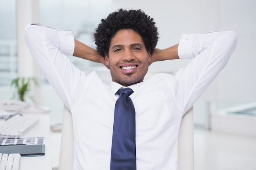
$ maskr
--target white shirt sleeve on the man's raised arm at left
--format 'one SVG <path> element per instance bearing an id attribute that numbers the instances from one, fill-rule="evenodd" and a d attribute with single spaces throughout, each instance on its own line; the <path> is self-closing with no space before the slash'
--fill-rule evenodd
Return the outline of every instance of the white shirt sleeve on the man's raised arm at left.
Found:
<path id="1" fill-rule="evenodd" d="M 74 53 L 72 32 L 43 24 L 29 24 L 25 28 L 24 39 L 40 71 L 70 108 L 76 86 L 83 75 L 67 57 Z"/>

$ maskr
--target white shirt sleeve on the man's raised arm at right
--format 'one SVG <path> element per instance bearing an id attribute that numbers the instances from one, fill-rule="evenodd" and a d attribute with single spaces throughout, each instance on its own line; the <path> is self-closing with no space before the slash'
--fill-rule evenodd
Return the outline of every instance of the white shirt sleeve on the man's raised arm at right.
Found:
<path id="1" fill-rule="evenodd" d="M 226 66 L 237 45 L 234 31 L 184 34 L 181 36 L 178 55 L 193 59 L 175 75 L 176 99 L 184 113 L 211 84 Z"/>

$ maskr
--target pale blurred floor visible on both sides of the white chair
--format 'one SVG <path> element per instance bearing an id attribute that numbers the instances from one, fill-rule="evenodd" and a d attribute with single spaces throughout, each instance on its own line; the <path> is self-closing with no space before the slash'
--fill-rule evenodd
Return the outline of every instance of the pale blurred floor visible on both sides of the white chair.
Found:
<path id="1" fill-rule="evenodd" d="M 58 166 L 61 133 L 51 134 L 52 167 Z M 195 170 L 256 170 L 256 137 L 195 128 Z"/>

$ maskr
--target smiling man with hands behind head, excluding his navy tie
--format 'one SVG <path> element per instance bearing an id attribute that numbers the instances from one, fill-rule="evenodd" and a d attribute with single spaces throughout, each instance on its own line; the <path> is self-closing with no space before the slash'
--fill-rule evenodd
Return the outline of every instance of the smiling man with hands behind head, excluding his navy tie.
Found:
<path id="1" fill-rule="evenodd" d="M 120 9 L 101 21 L 94 34 L 97 51 L 74 40 L 71 32 L 41 24 L 30 24 L 25 30 L 32 56 L 72 112 L 74 170 L 112 167 L 117 91 L 126 87 L 133 91 L 130 99 L 135 108 L 135 167 L 177 170 L 182 115 L 227 64 L 237 44 L 236 34 L 226 31 L 182 35 L 179 44 L 160 50 L 155 49 L 155 22 L 141 10 Z M 66 55 L 103 63 L 110 69 L 110 86 L 95 72 L 85 75 L 79 71 Z M 175 75 L 159 73 L 144 81 L 151 63 L 178 58 L 193 60 Z M 134 168 L 124 165 L 119 169 Z"/>

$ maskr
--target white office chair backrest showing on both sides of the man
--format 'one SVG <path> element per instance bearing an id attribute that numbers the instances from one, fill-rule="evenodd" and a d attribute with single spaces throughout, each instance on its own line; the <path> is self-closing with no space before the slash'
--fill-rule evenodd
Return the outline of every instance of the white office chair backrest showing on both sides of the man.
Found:
<path id="1" fill-rule="evenodd" d="M 194 170 L 193 107 L 182 117 L 178 137 L 179 170 Z M 74 134 L 70 111 L 64 106 L 61 150 L 58 170 L 72 170 L 74 163 Z"/>

